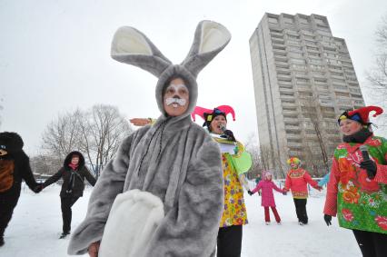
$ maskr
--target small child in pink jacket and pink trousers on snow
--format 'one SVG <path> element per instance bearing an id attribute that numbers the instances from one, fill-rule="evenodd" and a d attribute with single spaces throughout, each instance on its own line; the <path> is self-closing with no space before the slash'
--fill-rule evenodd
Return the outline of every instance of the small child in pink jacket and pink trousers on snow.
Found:
<path id="1" fill-rule="evenodd" d="M 275 217 L 275 221 L 279 225 L 281 224 L 280 215 L 278 214 L 277 209 L 275 208 L 273 189 L 275 191 L 280 192 L 280 193 L 286 194 L 285 191 L 283 191 L 281 188 L 277 187 L 275 185 L 275 183 L 273 183 L 272 173 L 265 172 L 265 173 L 263 173 L 263 180 L 257 184 L 257 186 L 253 189 L 253 191 L 248 191 L 248 193 L 250 195 L 253 195 L 253 193 L 257 193 L 257 192 L 259 192 L 259 190 L 262 190 L 261 206 L 263 206 L 263 208 L 264 208 L 264 221 L 266 222 L 266 225 L 270 224 L 269 207 L 272 208 L 272 211 L 273 211 L 273 214 Z"/>

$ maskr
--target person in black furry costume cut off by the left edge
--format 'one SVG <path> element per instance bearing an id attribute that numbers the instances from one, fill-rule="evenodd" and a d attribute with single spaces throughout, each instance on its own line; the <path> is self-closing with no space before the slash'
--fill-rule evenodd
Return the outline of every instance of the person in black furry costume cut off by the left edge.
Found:
<path id="1" fill-rule="evenodd" d="M 0 247 L 4 245 L 4 232 L 11 221 L 19 200 L 22 180 L 35 193 L 41 191 L 31 171 L 28 156 L 23 151 L 23 140 L 17 133 L 0 133 Z"/>

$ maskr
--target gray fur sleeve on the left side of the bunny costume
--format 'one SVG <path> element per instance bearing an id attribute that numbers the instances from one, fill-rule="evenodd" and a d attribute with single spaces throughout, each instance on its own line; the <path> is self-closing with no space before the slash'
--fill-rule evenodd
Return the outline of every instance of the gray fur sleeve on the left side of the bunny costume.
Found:
<path id="1" fill-rule="evenodd" d="M 104 225 L 107 221 L 115 196 L 123 192 L 124 180 L 129 165 L 129 149 L 133 133 L 120 145 L 118 152 L 104 168 L 95 183 L 90 196 L 86 217 L 73 232 L 68 254 L 84 254 L 92 242 L 102 239 Z M 109 190 L 106 190 L 108 188 Z"/>

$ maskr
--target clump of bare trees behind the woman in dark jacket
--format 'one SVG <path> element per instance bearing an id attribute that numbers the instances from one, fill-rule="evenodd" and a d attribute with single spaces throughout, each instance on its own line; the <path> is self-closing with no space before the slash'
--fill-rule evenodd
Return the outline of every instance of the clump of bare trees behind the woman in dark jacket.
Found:
<path id="1" fill-rule="evenodd" d="M 84 153 L 85 164 L 98 177 L 131 132 L 129 123 L 116 107 L 97 104 L 86 112 L 75 110 L 59 115 L 49 124 L 43 134 L 44 155 L 57 156 L 63 162 L 68 153 L 78 150 Z"/>

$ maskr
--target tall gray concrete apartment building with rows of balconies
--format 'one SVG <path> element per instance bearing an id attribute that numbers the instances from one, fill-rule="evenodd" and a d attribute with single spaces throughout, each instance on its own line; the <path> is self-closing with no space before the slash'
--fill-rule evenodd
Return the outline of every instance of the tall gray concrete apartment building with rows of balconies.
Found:
<path id="1" fill-rule="evenodd" d="M 338 115 L 364 105 L 344 39 L 332 36 L 325 16 L 266 13 L 250 53 L 266 166 L 283 173 L 288 157 L 299 156 L 326 173 L 323 155 L 330 160 L 341 142 Z"/>

